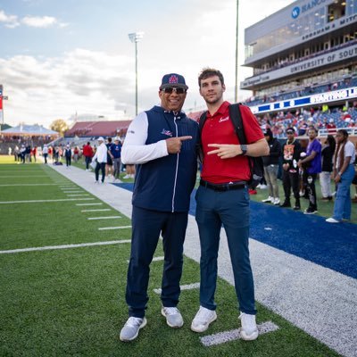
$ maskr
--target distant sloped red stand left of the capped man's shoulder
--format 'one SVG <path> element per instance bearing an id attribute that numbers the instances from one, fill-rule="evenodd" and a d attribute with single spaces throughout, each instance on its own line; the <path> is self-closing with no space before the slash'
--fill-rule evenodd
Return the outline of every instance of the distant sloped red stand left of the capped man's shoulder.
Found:
<path id="1" fill-rule="evenodd" d="M 77 121 L 64 137 L 114 137 L 125 134 L 131 120 Z"/>

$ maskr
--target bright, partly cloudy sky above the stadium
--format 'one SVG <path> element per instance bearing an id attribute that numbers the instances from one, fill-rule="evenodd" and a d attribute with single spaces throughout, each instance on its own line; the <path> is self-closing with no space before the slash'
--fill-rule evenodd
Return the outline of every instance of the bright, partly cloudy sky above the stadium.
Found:
<path id="1" fill-rule="evenodd" d="M 244 29 L 291 4 L 241 0 L 239 63 Z M 183 74 L 186 111 L 202 109 L 197 74 L 215 67 L 233 100 L 237 0 L 0 0 L 0 84 L 4 122 L 69 120 L 77 113 L 131 119 L 135 114 L 135 46 L 138 43 L 138 109 L 158 104 L 162 75 Z M 239 68 L 239 81 L 251 75 Z M 239 100 L 249 92 L 240 93 Z"/>

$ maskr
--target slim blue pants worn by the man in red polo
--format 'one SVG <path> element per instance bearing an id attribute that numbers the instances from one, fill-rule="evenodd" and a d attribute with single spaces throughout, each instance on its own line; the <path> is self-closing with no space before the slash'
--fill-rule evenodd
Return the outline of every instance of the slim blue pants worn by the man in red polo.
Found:
<path id="1" fill-rule="evenodd" d="M 229 191 L 213 191 L 198 187 L 195 195 L 197 221 L 201 243 L 200 304 L 215 310 L 214 293 L 217 282 L 217 257 L 220 247 L 220 228 L 228 238 L 230 261 L 235 279 L 239 309 L 255 314 L 254 285 L 249 259 L 249 195 L 246 187 Z"/>

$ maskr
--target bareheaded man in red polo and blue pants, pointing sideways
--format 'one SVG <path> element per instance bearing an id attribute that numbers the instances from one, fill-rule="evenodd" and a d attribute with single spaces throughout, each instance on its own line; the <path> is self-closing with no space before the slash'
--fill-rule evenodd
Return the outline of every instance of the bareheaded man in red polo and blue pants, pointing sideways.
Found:
<path id="1" fill-rule="evenodd" d="M 217 280 L 217 257 L 220 228 L 226 230 L 235 278 L 242 324 L 240 335 L 245 340 L 258 337 L 255 322 L 253 273 L 249 260 L 249 195 L 251 178 L 247 156 L 269 154 L 262 129 L 245 105 L 240 105 L 247 145 L 240 145 L 232 120 L 229 103 L 223 100 L 226 90 L 223 75 L 205 69 L 198 78 L 200 94 L 208 112 L 201 133 L 203 170 L 200 187 L 195 195 L 201 243 L 200 309 L 191 329 L 205 331 L 217 319 L 214 293 Z"/>

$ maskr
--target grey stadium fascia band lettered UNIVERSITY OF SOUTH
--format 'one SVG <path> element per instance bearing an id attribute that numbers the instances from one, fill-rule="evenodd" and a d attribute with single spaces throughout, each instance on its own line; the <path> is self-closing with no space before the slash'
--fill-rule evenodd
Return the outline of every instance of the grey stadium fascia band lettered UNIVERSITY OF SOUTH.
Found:
<path id="1" fill-rule="evenodd" d="M 286 66 L 280 70 L 269 71 L 262 73 L 259 76 L 251 77 L 241 83 L 241 89 L 249 89 L 257 84 L 270 82 L 271 80 L 285 78 L 303 71 L 310 71 L 312 69 L 320 68 L 328 64 L 344 61 L 357 56 L 357 45 L 348 46 L 339 50 L 328 52 L 328 54 L 321 54 L 320 56 L 312 57 L 309 60 L 298 62 L 290 66 Z"/>

